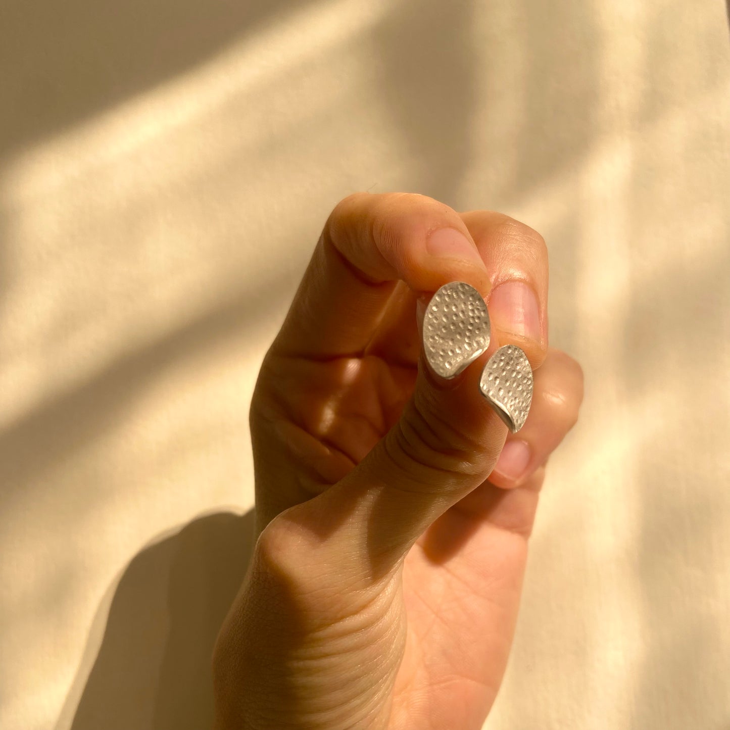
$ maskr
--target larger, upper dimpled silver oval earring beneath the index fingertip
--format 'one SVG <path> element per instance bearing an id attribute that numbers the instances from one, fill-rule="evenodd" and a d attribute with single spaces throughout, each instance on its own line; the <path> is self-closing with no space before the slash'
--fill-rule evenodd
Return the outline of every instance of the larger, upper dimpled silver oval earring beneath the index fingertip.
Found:
<path id="1" fill-rule="evenodd" d="M 454 377 L 489 347 L 489 312 L 469 284 L 445 284 L 429 301 L 423 318 L 423 351 L 431 369 Z"/>

